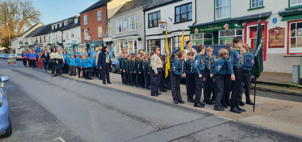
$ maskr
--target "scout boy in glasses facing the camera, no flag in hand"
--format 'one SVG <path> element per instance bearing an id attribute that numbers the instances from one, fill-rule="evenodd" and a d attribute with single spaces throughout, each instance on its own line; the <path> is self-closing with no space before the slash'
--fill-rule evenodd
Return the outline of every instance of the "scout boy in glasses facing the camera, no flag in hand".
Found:
<path id="1" fill-rule="evenodd" d="M 211 94 L 212 94 L 212 86 L 213 86 L 213 77 L 210 77 L 211 68 L 215 63 L 215 59 L 212 56 L 213 47 L 207 47 L 207 56 L 204 56 L 204 101 L 206 104 L 214 104 L 211 101 Z M 213 93 L 214 95 L 214 93 Z"/>

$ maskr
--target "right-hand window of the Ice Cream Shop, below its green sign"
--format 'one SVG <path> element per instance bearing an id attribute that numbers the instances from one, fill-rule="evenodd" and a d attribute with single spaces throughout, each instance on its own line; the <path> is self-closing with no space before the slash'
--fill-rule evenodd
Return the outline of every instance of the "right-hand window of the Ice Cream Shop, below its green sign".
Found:
<path id="1" fill-rule="evenodd" d="M 243 29 L 230 29 L 219 31 L 219 44 L 233 44 L 233 38 L 242 38 Z"/>

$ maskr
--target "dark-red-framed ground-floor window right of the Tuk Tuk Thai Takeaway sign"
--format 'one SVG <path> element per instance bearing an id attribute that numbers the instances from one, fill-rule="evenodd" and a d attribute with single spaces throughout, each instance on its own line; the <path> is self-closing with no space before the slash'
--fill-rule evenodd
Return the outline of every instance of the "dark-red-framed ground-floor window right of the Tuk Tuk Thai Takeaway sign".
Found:
<path id="1" fill-rule="evenodd" d="M 289 22 L 289 53 L 301 53 L 302 51 L 302 21 Z"/>

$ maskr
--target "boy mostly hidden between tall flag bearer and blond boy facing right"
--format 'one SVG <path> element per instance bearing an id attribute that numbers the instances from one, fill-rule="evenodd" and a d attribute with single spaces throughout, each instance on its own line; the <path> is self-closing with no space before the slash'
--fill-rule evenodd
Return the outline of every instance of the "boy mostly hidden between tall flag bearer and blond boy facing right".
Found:
<path id="1" fill-rule="evenodd" d="M 228 53 L 230 53 L 233 50 L 233 48 L 227 48 L 227 50 L 228 50 Z M 224 75 L 224 97 L 221 99 L 221 105 L 224 108 L 228 108 L 228 106 L 231 106 L 231 104 L 230 104 L 231 72 L 230 72 L 230 69 L 228 66 L 229 55 L 226 56 L 226 59 L 224 59 L 224 62 L 225 62 L 226 74 Z"/>

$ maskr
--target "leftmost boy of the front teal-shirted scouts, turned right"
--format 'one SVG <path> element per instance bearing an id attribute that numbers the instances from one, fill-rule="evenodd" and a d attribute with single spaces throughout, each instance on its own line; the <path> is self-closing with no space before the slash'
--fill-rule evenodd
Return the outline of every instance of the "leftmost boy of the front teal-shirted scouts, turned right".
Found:
<path id="1" fill-rule="evenodd" d="M 172 65 L 171 71 L 171 89 L 172 89 L 172 98 L 175 104 L 184 103 L 182 96 L 180 95 L 180 76 L 185 77 L 185 60 L 186 52 L 178 51 L 178 59 Z"/>

